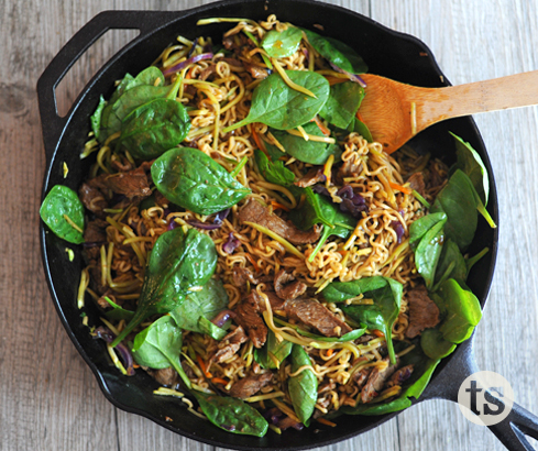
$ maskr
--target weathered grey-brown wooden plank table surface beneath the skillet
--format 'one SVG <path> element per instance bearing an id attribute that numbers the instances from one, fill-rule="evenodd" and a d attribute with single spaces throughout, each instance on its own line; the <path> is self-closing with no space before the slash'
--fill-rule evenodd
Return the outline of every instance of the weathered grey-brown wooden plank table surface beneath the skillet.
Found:
<path id="1" fill-rule="evenodd" d="M 0 1 L 0 450 L 190 450 L 185 439 L 114 408 L 65 333 L 41 265 L 45 170 L 35 85 L 59 48 L 99 11 L 178 10 L 199 0 Z M 536 0 L 334 0 L 422 40 L 452 84 L 538 69 Z M 89 77 L 132 32 L 101 40 L 57 90 L 67 111 Z M 517 89 L 525 89 L 524 86 Z M 476 331 L 479 366 L 504 375 L 538 413 L 538 109 L 475 118 L 501 208 L 496 273 Z M 536 442 L 535 442 L 536 443 Z M 365 435 L 318 450 L 498 450 L 455 404 L 422 403 Z"/>

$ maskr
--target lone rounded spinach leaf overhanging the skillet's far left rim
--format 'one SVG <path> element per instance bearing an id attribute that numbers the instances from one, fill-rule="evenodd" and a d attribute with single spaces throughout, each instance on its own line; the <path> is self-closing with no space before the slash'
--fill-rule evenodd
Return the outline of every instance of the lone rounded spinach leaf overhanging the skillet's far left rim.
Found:
<path id="1" fill-rule="evenodd" d="M 84 243 L 84 206 L 77 194 L 64 185 L 55 185 L 48 191 L 40 209 L 41 219 L 59 238 L 69 243 Z M 69 221 L 80 229 L 77 230 Z"/>

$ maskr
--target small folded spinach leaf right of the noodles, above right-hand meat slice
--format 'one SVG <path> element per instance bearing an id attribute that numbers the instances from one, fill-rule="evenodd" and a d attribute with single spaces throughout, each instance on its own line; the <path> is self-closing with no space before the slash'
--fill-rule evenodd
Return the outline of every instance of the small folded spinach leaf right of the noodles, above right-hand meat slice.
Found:
<path id="1" fill-rule="evenodd" d="M 415 249 L 415 265 L 418 273 L 426 282 L 426 287 L 431 289 L 436 276 L 437 262 L 443 246 L 443 227 L 446 220 L 437 222 L 420 239 Z"/>

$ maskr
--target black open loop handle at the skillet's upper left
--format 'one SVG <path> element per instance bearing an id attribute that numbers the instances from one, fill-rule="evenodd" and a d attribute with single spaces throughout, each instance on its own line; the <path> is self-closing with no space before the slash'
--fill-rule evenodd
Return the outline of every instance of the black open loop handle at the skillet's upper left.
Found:
<path id="1" fill-rule="evenodd" d="M 185 14 L 185 11 L 103 11 L 84 25 L 58 52 L 37 80 L 37 97 L 42 119 L 47 164 L 51 162 L 65 125 L 78 100 L 65 118 L 58 116 L 55 90 L 80 56 L 109 30 L 140 30 L 140 35 L 123 50 L 143 40 L 149 33 Z M 91 85 L 91 81 L 90 84 Z"/>

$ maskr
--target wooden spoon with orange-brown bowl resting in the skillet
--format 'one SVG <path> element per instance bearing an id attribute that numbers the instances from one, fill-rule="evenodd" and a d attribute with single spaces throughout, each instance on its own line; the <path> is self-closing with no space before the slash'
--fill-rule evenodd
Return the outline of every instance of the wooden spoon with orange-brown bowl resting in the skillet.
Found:
<path id="1" fill-rule="evenodd" d="M 372 74 L 361 78 L 366 96 L 359 114 L 387 153 L 446 119 L 538 103 L 538 70 L 446 88 L 419 88 Z"/>

